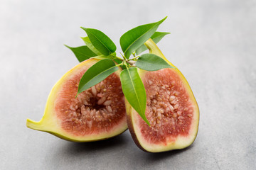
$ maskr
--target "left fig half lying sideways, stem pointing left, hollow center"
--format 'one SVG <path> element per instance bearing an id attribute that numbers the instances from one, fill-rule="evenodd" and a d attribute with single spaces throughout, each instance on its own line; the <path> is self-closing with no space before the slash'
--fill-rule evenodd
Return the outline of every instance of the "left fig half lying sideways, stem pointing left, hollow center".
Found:
<path id="1" fill-rule="evenodd" d="M 64 74 L 50 91 L 43 118 L 28 119 L 27 127 L 75 142 L 104 140 L 127 130 L 121 69 L 75 98 L 82 75 L 97 61 L 85 60 Z"/>

